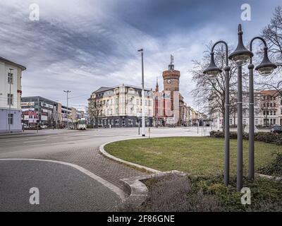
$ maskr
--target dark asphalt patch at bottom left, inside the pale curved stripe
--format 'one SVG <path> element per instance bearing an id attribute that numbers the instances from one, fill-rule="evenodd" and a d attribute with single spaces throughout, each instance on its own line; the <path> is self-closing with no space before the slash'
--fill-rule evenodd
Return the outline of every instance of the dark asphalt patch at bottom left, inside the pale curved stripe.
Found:
<path id="1" fill-rule="evenodd" d="M 33 187 L 39 205 L 30 203 Z M 96 180 L 54 162 L 0 161 L 0 189 L 0 211 L 115 211 L 120 203 Z"/>

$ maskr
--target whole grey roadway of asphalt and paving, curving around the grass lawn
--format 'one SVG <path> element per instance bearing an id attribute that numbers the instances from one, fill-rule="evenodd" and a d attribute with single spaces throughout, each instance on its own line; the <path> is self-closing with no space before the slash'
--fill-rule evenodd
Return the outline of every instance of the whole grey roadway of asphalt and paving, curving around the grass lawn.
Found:
<path id="1" fill-rule="evenodd" d="M 150 137 L 206 133 L 208 131 L 197 131 L 197 128 L 151 129 Z M 148 129 L 146 134 L 148 137 Z M 0 161 L 0 210 L 116 210 L 116 205 L 128 196 L 120 180 L 145 172 L 105 158 L 98 148 L 102 143 L 126 138 L 140 138 L 137 129 L 46 130 L 38 134 L 0 136 L 0 159 L 69 162 L 94 175 L 91 178 L 72 167 L 50 162 Z M 39 206 L 26 203 L 34 184 L 39 186 L 42 195 Z"/>

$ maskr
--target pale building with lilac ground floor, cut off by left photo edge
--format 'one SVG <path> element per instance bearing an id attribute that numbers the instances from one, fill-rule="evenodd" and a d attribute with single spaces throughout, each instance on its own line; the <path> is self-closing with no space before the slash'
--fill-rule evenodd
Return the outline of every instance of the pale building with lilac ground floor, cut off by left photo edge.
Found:
<path id="1" fill-rule="evenodd" d="M 0 133 L 22 131 L 20 96 L 25 66 L 0 57 Z"/>

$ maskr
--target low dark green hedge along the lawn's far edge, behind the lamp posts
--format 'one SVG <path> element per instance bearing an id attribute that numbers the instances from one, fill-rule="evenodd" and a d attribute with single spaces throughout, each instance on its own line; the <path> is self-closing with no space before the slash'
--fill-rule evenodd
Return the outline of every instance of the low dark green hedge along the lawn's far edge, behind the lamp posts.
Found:
<path id="1" fill-rule="evenodd" d="M 221 131 L 210 131 L 210 137 L 214 138 L 224 138 L 224 133 Z M 231 139 L 237 139 L 236 132 L 230 132 Z M 248 140 L 249 134 L 243 133 L 243 139 Z M 255 133 L 255 141 L 262 141 L 265 143 L 274 143 L 276 145 L 282 145 L 282 134 L 270 133 L 270 132 L 258 132 Z"/>

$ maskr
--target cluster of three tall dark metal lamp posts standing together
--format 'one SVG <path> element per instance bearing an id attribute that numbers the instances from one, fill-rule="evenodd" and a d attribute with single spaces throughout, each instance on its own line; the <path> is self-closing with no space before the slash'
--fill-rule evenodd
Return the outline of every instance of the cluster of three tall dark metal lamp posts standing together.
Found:
<path id="1" fill-rule="evenodd" d="M 252 42 L 256 39 L 264 42 L 264 59 L 262 63 L 256 68 L 252 64 Z M 216 78 L 216 76 L 222 72 L 214 63 L 214 47 L 216 44 L 223 43 L 226 46 L 226 100 L 225 100 L 225 157 L 224 157 L 224 183 L 227 185 L 229 180 L 229 71 L 228 59 L 231 59 L 238 66 L 238 93 L 237 93 L 237 107 L 238 107 L 238 123 L 237 123 L 237 191 L 240 191 L 243 186 L 243 98 L 242 98 L 242 66 L 250 60 L 248 69 L 250 70 L 250 127 L 249 127 L 249 179 L 254 179 L 255 172 L 255 155 L 254 155 L 254 81 L 253 81 L 253 69 L 259 71 L 262 76 L 268 76 L 276 69 L 276 64 L 271 63 L 267 56 L 266 42 L 262 37 L 254 37 L 250 42 L 250 51 L 245 48 L 243 44 L 243 31 L 241 25 L 238 25 L 238 46 L 235 51 L 228 57 L 228 45 L 226 42 L 219 41 L 214 44 L 211 52 L 211 62 L 207 69 L 203 73 L 207 74 L 209 78 Z"/>

